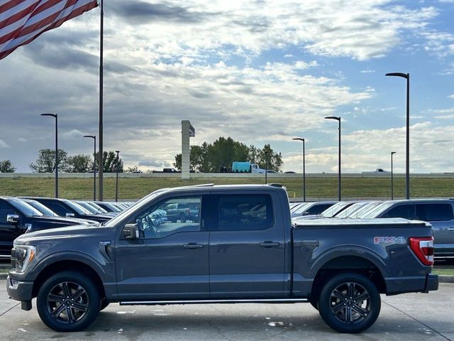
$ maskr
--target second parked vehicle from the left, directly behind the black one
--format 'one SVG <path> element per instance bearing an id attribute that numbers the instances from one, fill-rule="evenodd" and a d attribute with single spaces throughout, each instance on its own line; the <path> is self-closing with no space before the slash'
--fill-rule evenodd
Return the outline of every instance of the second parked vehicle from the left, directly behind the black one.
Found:
<path id="1" fill-rule="evenodd" d="M 41 202 L 43 205 L 50 208 L 50 210 L 57 213 L 62 217 L 76 217 L 88 220 L 95 220 L 96 222 L 106 222 L 111 219 L 109 215 L 93 215 L 89 210 L 67 199 L 60 199 L 56 197 L 24 197 L 26 199 L 33 199 Z"/>

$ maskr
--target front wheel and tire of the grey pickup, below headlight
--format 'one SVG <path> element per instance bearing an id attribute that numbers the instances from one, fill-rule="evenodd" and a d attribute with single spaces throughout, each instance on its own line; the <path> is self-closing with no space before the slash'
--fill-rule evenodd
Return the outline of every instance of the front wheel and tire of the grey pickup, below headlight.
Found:
<path id="1" fill-rule="evenodd" d="M 36 299 L 41 320 L 57 332 L 84 330 L 96 319 L 100 304 L 94 283 L 77 271 L 51 276 L 41 286 Z"/>

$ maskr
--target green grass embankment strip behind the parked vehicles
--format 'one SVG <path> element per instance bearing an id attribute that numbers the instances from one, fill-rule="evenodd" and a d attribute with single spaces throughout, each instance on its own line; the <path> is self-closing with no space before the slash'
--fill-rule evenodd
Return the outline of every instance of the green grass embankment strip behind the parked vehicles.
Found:
<path id="1" fill-rule="evenodd" d="M 68 199 L 89 200 L 93 196 L 92 178 L 60 178 L 60 197 Z M 138 199 L 159 188 L 182 185 L 214 183 L 216 185 L 264 183 L 263 178 L 218 178 L 204 177 L 182 180 L 179 177 L 137 177 L 120 178 L 118 197 L 121 200 Z M 273 177 L 268 183 L 282 183 L 287 188 L 289 197 L 301 197 L 302 180 L 296 177 Z M 394 179 L 394 197 L 404 197 L 404 178 Z M 17 177 L 0 178 L 0 195 L 54 195 L 54 179 Z M 306 178 L 306 196 L 312 199 L 337 198 L 338 181 L 336 177 Z M 411 197 L 454 197 L 454 178 L 412 178 L 410 180 Z M 358 178 L 342 179 L 343 198 L 389 198 L 389 178 Z M 115 178 L 104 178 L 104 199 L 115 197 Z"/>

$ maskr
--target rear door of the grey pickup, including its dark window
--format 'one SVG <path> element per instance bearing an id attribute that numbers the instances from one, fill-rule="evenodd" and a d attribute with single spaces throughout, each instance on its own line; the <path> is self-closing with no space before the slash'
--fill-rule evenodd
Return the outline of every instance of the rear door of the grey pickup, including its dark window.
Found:
<path id="1" fill-rule="evenodd" d="M 209 237 L 211 298 L 284 295 L 284 224 L 275 193 L 217 194 Z M 276 207 L 279 205 L 279 207 Z"/>

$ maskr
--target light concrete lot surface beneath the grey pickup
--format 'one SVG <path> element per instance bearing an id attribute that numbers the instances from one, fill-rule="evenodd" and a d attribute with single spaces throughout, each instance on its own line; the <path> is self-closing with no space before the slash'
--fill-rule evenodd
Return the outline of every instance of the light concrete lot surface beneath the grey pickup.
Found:
<path id="1" fill-rule="evenodd" d="M 0 340 L 454 340 L 454 284 L 429 294 L 382 296 L 375 325 L 358 335 L 328 328 L 307 303 L 121 306 L 83 332 L 59 333 L 21 310 L 0 281 Z"/>

